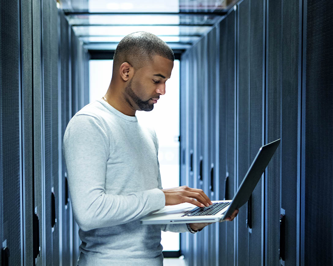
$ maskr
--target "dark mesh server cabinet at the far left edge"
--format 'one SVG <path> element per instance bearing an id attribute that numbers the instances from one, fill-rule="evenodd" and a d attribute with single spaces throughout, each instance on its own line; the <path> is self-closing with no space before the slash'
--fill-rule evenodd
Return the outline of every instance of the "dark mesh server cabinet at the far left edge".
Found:
<path id="1" fill-rule="evenodd" d="M 0 5 L 0 189 L 3 215 L 0 221 L 0 235 L 3 265 L 21 265 L 23 262 L 20 71 L 22 65 L 19 4 L 19 1 L 8 1 L 6 5 Z"/>

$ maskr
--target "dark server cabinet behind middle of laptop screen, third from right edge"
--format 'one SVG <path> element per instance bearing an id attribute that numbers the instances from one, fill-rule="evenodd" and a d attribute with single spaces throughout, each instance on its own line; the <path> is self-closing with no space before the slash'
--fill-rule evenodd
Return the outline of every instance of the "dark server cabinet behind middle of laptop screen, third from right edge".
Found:
<path id="1" fill-rule="evenodd" d="M 264 3 L 237 6 L 237 187 L 263 144 Z M 263 265 L 261 179 L 237 218 L 237 264 Z"/>

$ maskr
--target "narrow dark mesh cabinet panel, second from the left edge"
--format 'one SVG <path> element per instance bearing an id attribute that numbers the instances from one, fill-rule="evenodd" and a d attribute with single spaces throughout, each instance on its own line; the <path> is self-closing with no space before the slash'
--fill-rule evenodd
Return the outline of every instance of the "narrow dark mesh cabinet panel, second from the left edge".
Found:
<path id="1" fill-rule="evenodd" d="M 33 265 L 32 2 L 21 1 L 23 261 Z"/>

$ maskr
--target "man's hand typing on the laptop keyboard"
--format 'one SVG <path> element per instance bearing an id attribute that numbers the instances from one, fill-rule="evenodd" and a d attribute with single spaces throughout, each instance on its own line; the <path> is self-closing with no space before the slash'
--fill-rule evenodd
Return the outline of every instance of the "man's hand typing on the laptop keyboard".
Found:
<path id="1" fill-rule="evenodd" d="M 162 191 L 166 197 L 166 206 L 184 202 L 192 203 L 198 207 L 208 207 L 210 204 L 213 204 L 201 189 L 182 186 L 172 189 L 163 189 Z"/>

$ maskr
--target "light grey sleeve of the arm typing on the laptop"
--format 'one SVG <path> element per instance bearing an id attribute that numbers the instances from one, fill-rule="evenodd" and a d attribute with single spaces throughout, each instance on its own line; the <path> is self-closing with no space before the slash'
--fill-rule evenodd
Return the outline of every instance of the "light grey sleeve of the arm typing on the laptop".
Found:
<path id="1" fill-rule="evenodd" d="M 126 195 L 106 191 L 110 147 L 111 152 L 116 148 L 111 138 L 103 122 L 89 115 L 76 115 L 64 135 L 73 214 L 84 231 L 124 224 L 165 205 L 164 193 L 158 188 Z M 140 180 L 135 175 L 133 172 L 132 179 Z"/>

